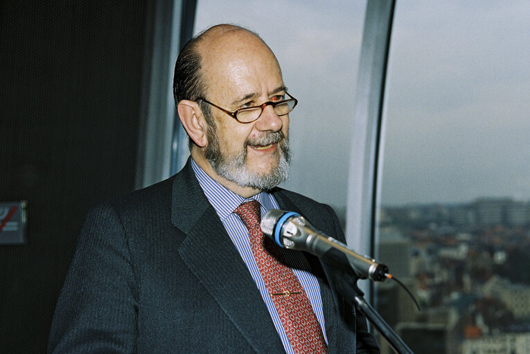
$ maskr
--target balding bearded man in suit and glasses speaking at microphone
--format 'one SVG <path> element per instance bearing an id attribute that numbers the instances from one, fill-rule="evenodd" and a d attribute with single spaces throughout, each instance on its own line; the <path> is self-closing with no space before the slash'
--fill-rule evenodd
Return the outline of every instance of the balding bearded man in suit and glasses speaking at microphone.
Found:
<path id="1" fill-rule="evenodd" d="M 180 53 L 174 93 L 191 158 L 89 214 L 48 351 L 378 353 L 330 270 L 264 246 L 247 218 L 288 209 L 344 241 L 330 207 L 276 187 L 297 101 L 270 48 L 243 28 L 214 26 Z M 277 283 L 288 288 L 271 290 Z"/>

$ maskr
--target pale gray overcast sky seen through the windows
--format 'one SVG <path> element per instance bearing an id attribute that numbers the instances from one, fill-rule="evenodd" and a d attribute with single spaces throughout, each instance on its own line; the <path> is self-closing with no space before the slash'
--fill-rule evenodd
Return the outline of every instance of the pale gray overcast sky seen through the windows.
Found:
<path id="1" fill-rule="evenodd" d="M 335 207 L 347 172 L 364 1 L 200 0 L 196 31 L 256 30 L 300 104 L 287 187 Z M 382 202 L 530 199 L 530 1 L 397 0 Z"/>

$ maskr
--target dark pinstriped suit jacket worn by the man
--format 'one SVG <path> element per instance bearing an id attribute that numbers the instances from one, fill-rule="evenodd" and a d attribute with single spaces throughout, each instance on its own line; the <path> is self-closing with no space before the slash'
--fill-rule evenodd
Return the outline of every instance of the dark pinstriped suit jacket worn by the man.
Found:
<path id="1" fill-rule="evenodd" d="M 283 189 L 274 198 L 344 240 L 327 205 Z M 371 353 L 377 344 L 364 317 L 330 287 L 319 260 L 307 258 L 321 288 L 329 353 Z M 89 213 L 48 352 L 285 353 L 189 162 L 172 178 Z"/>

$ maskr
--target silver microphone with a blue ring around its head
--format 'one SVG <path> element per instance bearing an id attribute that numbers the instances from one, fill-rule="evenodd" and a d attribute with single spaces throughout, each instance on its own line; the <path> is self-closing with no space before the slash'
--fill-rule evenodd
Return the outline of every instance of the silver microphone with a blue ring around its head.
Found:
<path id="1" fill-rule="evenodd" d="M 295 212 L 270 209 L 261 220 L 261 230 L 280 247 L 310 252 L 330 265 L 339 263 L 353 269 L 360 279 L 384 281 L 391 277 L 387 265 L 353 252 L 344 243 L 315 230 Z"/>

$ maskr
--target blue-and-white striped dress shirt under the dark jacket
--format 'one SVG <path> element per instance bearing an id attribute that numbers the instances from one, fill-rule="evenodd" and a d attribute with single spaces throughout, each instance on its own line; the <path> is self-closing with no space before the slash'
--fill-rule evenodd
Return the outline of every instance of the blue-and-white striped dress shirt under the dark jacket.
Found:
<path id="1" fill-rule="evenodd" d="M 274 199 L 272 194 L 269 194 L 265 191 L 261 192 L 260 194 L 256 194 L 251 198 L 245 199 L 242 196 L 231 192 L 229 189 L 223 187 L 213 178 L 208 176 L 193 159 L 191 160 L 191 167 L 195 172 L 195 176 L 197 177 L 204 194 L 206 194 L 206 198 L 208 198 L 208 201 L 215 209 L 215 212 L 217 212 L 224 225 L 224 228 L 227 230 L 230 236 L 231 241 L 234 245 L 236 245 L 242 260 L 247 265 L 252 279 L 254 279 L 254 282 L 261 293 L 261 297 L 263 298 L 263 301 L 265 301 L 265 306 L 267 306 L 267 310 L 269 310 L 270 316 L 272 317 L 272 322 L 274 322 L 274 327 L 278 331 L 283 347 L 285 348 L 285 352 L 288 354 L 294 354 L 287 334 L 285 333 L 285 330 L 281 324 L 278 312 L 276 311 L 274 303 L 267 292 L 265 282 L 260 275 L 258 265 L 256 265 L 256 260 L 254 259 L 254 255 L 252 254 L 252 250 L 250 248 L 249 232 L 247 227 L 245 227 L 245 224 L 243 224 L 239 216 L 233 212 L 241 203 L 251 199 L 256 199 L 256 201 L 258 201 L 261 205 L 261 216 L 263 217 L 268 210 L 279 209 L 278 202 L 276 202 L 276 199 Z M 308 264 L 306 257 L 303 257 L 301 252 L 283 252 L 283 254 L 285 255 L 285 259 L 288 261 L 288 263 L 292 265 L 294 274 L 297 276 L 301 286 L 303 287 L 303 290 L 305 290 L 308 295 L 309 302 L 315 311 L 315 315 L 317 316 L 318 322 L 322 328 L 322 333 L 324 333 L 324 339 L 326 339 L 327 344 L 328 339 L 326 337 L 326 330 L 324 329 L 324 315 L 322 312 L 322 299 L 320 296 L 319 283 L 315 276 L 309 271 L 310 265 Z"/>

